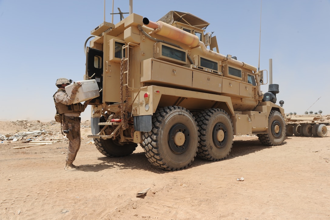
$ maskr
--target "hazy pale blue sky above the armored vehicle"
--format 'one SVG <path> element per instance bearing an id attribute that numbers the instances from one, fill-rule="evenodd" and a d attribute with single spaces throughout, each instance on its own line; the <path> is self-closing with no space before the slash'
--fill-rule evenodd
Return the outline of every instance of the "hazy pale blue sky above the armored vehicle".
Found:
<path id="1" fill-rule="evenodd" d="M 129 0 L 114 0 L 114 8 L 129 12 Z M 261 26 L 260 69 L 272 59 L 277 104 L 283 100 L 286 113 L 330 114 L 329 0 L 133 0 L 133 13 L 150 21 L 171 10 L 209 22 L 220 54 L 256 67 Z M 104 0 L 0 0 L 0 120 L 53 120 L 56 79 L 83 80 L 84 42 L 103 19 Z M 90 107 L 81 116 L 90 119 Z"/>

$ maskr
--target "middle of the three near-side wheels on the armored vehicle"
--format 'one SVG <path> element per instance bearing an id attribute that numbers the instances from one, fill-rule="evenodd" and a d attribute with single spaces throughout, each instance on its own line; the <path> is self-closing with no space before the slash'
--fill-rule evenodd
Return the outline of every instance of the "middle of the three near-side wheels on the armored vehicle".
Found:
<path id="1" fill-rule="evenodd" d="M 197 156 L 211 161 L 226 158 L 233 146 L 233 123 L 222 109 L 208 109 L 197 116 L 199 147 Z"/>

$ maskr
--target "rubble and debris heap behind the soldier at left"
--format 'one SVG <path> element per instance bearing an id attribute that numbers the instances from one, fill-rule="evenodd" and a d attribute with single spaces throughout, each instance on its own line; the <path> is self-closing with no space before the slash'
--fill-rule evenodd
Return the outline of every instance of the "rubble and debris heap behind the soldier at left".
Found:
<path id="1" fill-rule="evenodd" d="M 90 128 L 90 121 L 82 122 L 81 128 Z M 22 143 L 29 141 L 62 142 L 67 140 L 61 133 L 61 124 L 56 121 L 0 121 L 0 143 L 15 141 Z"/>

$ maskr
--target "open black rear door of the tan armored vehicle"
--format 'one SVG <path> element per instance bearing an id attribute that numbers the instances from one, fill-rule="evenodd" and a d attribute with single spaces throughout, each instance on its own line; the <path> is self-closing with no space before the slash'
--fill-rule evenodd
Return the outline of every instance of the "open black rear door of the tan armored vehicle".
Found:
<path id="1" fill-rule="evenodd" d="M 96 50 L 87 47 L 86 56 L 86 79 L 95 79 L 99 90 L 103 87 L 103 51 Z M 101 105 L 102 104 L 103 92 L 100 92 L 100 96 L 92 99 L 89 104 Z"/>

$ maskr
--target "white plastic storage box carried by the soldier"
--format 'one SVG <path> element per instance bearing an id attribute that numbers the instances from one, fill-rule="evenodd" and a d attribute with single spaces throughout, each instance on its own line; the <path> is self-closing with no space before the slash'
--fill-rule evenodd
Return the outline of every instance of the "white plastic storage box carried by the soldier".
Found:
<path id="1" fill-rule="evenodd" d="M 95 79 L 82 80 L 77 82 L 81 82 L 82 86 L 79 87 L 79 89 L 77 90 L 76 98 L 72 104 L 87 101 L 89 99 L 94 99 L 100 96 L 99 87 Z M 65 87 L 65 91 L 67 94 L 71 93 L 72 87 L 73 84 L 70 84 Z"/>

